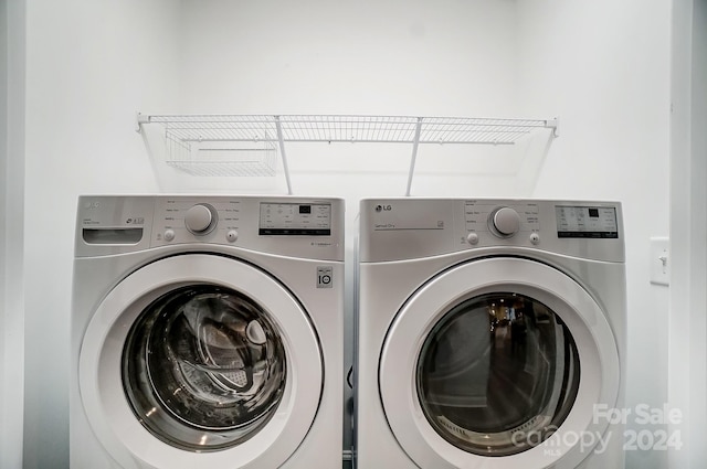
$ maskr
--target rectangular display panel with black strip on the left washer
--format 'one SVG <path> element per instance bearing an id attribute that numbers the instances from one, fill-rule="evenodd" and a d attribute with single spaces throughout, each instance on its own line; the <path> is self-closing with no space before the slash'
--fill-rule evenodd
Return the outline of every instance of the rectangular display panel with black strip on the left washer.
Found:
<path id="1" fill-rule="evenodd" d="M 262 236 L 330 236 L 331 204 L 261 203 Z"/>

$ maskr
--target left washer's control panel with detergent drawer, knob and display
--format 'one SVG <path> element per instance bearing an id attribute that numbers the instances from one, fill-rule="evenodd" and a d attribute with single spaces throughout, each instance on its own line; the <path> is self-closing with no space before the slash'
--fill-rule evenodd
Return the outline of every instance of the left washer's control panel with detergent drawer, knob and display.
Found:
<path id="1" fill-rule="evenodd" d="M 77 255 L 211 244 L 321 259 L 344 256 L 341 199 L 82 196 Z"/>

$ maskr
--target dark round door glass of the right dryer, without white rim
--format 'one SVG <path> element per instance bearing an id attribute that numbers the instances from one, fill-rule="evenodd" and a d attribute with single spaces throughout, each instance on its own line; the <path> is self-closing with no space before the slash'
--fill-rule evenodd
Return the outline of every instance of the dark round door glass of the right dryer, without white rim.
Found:
<path id="1" fill-rule="evenodd" d="M 551 309 L 493 292 L 460 302 L 435 324 L 418 360 L 416 391 L 445 440 L 476 455 L 508 456 L 557 430 L 579 376 L 572 334 Z"/>

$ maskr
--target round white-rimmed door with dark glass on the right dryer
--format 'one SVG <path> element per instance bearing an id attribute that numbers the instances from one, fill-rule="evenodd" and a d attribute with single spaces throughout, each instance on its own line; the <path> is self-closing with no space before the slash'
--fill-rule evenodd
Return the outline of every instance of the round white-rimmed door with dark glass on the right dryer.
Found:
<path id="1" fill-rule="evenodd" d="M 498 257 L 412 295 L 386 338 L 379 383 L 390 428 L 420 468 L 574 468 L 606 437 L 594 411 L 616 405 L 619 363 L 579 284 Z"/>

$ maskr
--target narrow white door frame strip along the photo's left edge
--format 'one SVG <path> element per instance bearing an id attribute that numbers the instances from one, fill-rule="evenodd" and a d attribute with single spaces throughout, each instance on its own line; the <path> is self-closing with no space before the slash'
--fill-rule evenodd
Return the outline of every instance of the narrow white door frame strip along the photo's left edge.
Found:
<path id="1" fill-rule="evenodd" d="M 22 461 L 24 2 L 0 2 L 0 468 Z"/>

